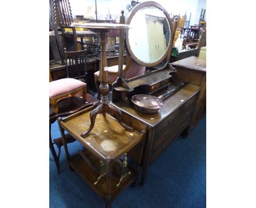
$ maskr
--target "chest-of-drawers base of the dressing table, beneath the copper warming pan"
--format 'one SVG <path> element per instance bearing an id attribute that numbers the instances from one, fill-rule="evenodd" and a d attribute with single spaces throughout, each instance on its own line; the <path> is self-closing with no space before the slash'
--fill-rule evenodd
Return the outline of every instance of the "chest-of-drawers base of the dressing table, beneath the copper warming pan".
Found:
<path id="1" fill-rule="evenodd" d="M 173 87 L 173 85 L 170 85 L 170 88 Z M 159 96 L 167 90 L 159 90 L 153 95 Z M 121 110 L 122 120 L 127 125 L 138 131 L 147 131 L 146 146 L 141 163 L 141 183 L 146 179 L 149 164 L 190 125 L 199 91 L 200 87 L 196 85 L 185 85 L 176 93 L 164 99 L 164 107 L 155 114 L 137 112 L 135 108 L 125 102 L 112 102 L 112 105 Z M 139 149 L 134 148 L 129 156 L 136 160 L 137 152 L 139 152 Z"/>

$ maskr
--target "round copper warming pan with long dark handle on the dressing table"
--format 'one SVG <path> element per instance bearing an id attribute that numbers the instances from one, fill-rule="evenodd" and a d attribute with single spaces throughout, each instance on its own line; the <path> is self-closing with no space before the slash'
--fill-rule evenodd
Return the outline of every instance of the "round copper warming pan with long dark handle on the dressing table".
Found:
<path id="1" fill-rule="evenodd" d="M 153 114 L 159 111 L 159 109 L 164 106 L 164 97 L 170 95 L 177 91 L 179 88 L 183 87 L 188 82 L 185 81 L 179 84 L 177 87 L 172 88 L 171 90 L 167 91 L 166 93 L 160 95 L 159 97 L 155 97 L 153 95 L 146 95 L 146 94 L 138 94 L 133 95 L 131 101 L 135 106 L 135 109 L 142 113 Z"/>

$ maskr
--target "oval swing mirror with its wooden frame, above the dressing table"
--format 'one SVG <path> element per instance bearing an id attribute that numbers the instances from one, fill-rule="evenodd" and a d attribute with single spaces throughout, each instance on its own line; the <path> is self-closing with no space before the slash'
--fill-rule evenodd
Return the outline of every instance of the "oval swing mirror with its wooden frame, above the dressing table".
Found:
<path id="1" fill-rule="evenodd" d="M 141 66 L 160 64 L 171 50 L 170 16 L 156 2 L 143 2 L 132 8 L 125 23 L 126 46 L 135 62 Z"/>

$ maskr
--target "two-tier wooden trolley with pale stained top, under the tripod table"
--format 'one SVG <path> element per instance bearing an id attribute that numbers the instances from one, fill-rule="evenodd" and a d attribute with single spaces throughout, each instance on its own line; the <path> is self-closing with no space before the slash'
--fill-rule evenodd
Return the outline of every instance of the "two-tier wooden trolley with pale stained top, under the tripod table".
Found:
<path id="1" fill-rule="evenodd" d="M 83 138 L 80 135 L 89 128 L 90 112 L 93 109 L 86 108 L 58 122 L 69 168 L 74 169 L 106 201 L 106 207 L 110 207 L 113 199 L 136 181 L 144 132 L 126 131 L 109 114 L 98 114 L 94 129 Z M 79 150 L 78 155 L 70 157 L 65 130 L 83 144 L 85 150 Z M 136 145 L 140 156 L 137 165 L 132 167 L 127 162 L 126 153 Z"/>

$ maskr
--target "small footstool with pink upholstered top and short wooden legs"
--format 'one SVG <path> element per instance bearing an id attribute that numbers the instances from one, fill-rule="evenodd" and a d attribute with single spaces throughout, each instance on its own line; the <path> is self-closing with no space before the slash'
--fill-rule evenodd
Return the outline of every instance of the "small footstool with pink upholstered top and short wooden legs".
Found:
<path id="1" fill-rule="evenodd" d="M 66 97 L 74 96 L 82 91 L 84 102 L 86 101 L 86 83 L 73 78 L 63 78 L 49 83 L 50 103 L 53 106 L 54 113 L 57 114 L 57 102 Z"/>

